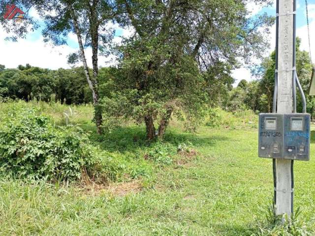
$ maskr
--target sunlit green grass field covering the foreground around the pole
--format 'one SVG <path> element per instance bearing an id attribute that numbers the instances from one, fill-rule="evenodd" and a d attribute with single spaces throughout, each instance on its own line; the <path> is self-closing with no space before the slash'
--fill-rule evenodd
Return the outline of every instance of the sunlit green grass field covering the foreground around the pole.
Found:
<path id="1" fill-rule="evenodd" d="M 82 127 L 93 130 L 86 117 Z M 143 163 L 144 136 L 143 127 L 130 125 L 91 139 L 106 151 L 139 155 L 134 163 Z M 256 129 L 202 126 L 190 134 L 173 123 L 163 144 L 181 142 L 197 155 L 175 155 L 171 165 L 148 164 L 149 175 L 109 186 L 26 184 L 2 177 L 0 235 L 250 236 L 267 227 L 272 161 L 258 158 Z M 311 161 L 296 161 L 294 169 L 294 206 L 301 207 L 305 232 L 315 227 L 314 143 L 312 132 Z"/>

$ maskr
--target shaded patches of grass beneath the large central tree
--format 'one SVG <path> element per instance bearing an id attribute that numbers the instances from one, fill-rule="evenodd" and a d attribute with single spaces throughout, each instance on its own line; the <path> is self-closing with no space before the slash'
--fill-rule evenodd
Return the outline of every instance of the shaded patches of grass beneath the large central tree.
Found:
<path id="1" fill-rule="evenodd" d="M 97 135 L 94 124 L 84 124 L 81 126 L 85 131 L 92 131 L 90 140 L 97 143 L 103 150 L 136 152 L 139 149 L 150 147 L 156 141 L 149 142 L 146 139 L 145 127 L 143 126 L 126 126 L 117 127 L 110 133 Z M 169 128 L 166 130 L 163 142 L 178 146 L 181 143 L 194 147 L 213 146 L 218 141 L 228 140 L 224 135 L 204 137 L 198 134 L 185 133 L 180 130 Z"/>

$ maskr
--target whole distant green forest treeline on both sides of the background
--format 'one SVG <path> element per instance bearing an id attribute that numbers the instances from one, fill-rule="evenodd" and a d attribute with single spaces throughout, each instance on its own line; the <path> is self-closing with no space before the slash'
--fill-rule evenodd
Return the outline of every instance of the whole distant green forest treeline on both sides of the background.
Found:
<path id="1" fill-rule="evenodd" d="M 307 111 L 314 113 L 315 99 L 308 95 L 312 65 L 309 54 L 300 50 L 301 40 L 297 38 L 296 57 L 297 74 L 302 88 L 308 100 Z M 253 112 L 271 112 L 274 91 L 275 53 L 263 59 L 262 63 L 255 68 L 253 76 L 258 79 L 250 82 L 241 80 L 237 87 L 233 88 L 234 79 L 230 71 L 226 72 L 220 79 L 216 72 L 207 76 L 209 83 L 204 89 L 208 92 L 208 107 L 220 107 L 223 110 L 236 112 L 240 110 L 252 110 Z M 99 69 L 99 93 L 103 106 L 109 113 L 113 108 L 113 101 L 119 102 L 120 97 L 115 97 L 111 89 L 114 88 L 114 77 L 119 78 L 120 70 L 116 67 L 103 67 Z M 123 83 L 123 82 L 122 82 Z M 297 92 L 299 94 L 299 92 Z M 83 67 L 71 69 L 49 70 L 32 67 L 30 64 L 19 65 L 16 69 L 6 69 L 0 65 L 0 95 L 12 99 L 60 101 L 64 104 L 92 103 L 91 89 L 86 82 Z M 126 98 L 126 97 L 125 97 Z M 122 102 L 122 101 L 120 101 Z M 105 104 L 104 104 L 105 105 Z M 302 110 L 301 96 L 297 98 L 297 109 Z M 117 110 L 112 111 L 117 112 Z M 112 114 L 114 115 L 114 114 Z"/>

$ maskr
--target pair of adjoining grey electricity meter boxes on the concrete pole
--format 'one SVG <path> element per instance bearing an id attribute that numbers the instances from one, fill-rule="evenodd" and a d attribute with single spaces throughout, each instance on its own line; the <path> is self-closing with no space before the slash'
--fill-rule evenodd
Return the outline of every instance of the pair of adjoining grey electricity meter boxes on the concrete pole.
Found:
<path id="1" fill-rule="evenodd" d="M 259 114 L 258 156 L 310 160 L 310 114 Z"/>

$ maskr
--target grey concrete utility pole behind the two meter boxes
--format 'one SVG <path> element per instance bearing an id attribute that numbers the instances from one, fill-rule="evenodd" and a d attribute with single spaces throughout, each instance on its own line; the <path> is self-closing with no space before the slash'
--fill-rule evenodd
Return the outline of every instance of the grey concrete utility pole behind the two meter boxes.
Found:
<path id="1" fill-rule="evenodd" d="M 293 18 L 295 14 L 294 0 L 279 0 L 279 48 L 278 48 L 278 102 L 277 113 L 289 114 L 293 110 L 292 87 L 293 83 L 292 68 L 293 50 L 295 45 L 293 37 L 295 36 L 295 26 Z M 294 35 L 294 36 L 293 36 Z M 293 45 L 293 47 L 292 47 Z M 293 73 L 292 73 L 293 72 Z M 276 214 L 291 215 L 292 189 L 291 189 L 291 160 L 276 160 L 277 176 L 277 197 Z"/>

